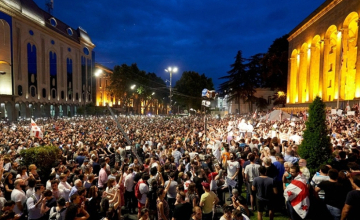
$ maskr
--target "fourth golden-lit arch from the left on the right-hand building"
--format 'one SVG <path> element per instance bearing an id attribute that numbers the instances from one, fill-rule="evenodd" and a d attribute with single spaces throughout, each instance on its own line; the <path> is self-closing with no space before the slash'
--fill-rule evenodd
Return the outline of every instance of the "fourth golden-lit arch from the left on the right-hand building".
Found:
<path id="1" fill-rule="evenodd" d="M 338 30 L 335 25 L 331 25 L 326 33 L 324 40 L 324 68 L 323 68 L 323 100 L 333 101 L 338 98 L 336 75 L 336 55 L 338 46 Z M 335 94 L 336 92 L 336 94 Z"/>

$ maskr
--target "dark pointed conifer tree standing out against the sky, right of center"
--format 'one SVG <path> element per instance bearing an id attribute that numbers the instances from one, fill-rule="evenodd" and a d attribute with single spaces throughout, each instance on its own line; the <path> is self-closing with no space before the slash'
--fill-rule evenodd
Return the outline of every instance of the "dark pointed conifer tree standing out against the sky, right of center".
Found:
<path id="1" fill-rule="evenodd" d="M 240 109 L 240 99 L 247 101 L 251 99 L 255 93 L 255 86 L 257 84 L 257 74 L 254 72 L 247 72 L 245 58 L 242 57 L 241 50 L 238 51 L 235 57 L 235 63 L 231 66 L 231 70 L 227 72 L 228 75 L 220 77 L 219 79 L 226 79 L 227 81 L 220 84 L 220 90 L 228 95 L 229 101 L 236 100 Z"/>

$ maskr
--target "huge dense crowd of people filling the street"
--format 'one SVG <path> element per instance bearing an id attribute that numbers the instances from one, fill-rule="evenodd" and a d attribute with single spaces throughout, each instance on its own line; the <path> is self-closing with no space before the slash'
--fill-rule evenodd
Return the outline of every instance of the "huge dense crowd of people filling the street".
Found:
<path id="1" fill-rule="evenodd" d="M 302 115 L 259 118 L 39 118 L 42 139 L 28 120 L 1 121 L 0 220 L 359 219 L 360 119 L 328 114 L 333 161 L 312 176 Z M 51 173 L 20 155 L 45 145 L 61 152 Z"/>

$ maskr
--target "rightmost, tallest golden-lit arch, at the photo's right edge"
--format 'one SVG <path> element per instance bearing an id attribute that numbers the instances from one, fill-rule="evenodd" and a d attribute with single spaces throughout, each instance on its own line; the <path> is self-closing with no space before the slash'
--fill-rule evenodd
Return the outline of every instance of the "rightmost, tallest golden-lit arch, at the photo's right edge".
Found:
<path id="1" fill-rule="evenodd" d="M 344 89 L 345 100 L 352 100 L 360 97 L 360 86 L 356 86 L 356 63 L 358 56 L 358 33 L 359 33 L 359 14 L 357 12 L 350 13 L 343 24 L 343 51 L 344 63 L 341 70 L 341 79 Z M 359 84 L 359 83 L 358 83 Z"/>

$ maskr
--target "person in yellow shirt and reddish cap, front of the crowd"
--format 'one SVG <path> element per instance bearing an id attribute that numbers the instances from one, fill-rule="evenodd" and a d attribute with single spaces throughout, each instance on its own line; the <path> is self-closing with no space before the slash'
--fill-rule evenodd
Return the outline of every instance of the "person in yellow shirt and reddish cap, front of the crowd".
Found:
<path id="1" fill-rule="evenodd" d="M 216 205 L 219 202 L 219 198 L 216 194 L 210 191 L 210 184 L 207 182 L 202 182 L 204 193 L 200 198 L 200 207 L 202 207 L 203 220 L 211 220 L 213 216 L 213 205 Z"/>

